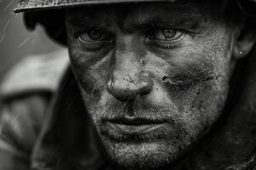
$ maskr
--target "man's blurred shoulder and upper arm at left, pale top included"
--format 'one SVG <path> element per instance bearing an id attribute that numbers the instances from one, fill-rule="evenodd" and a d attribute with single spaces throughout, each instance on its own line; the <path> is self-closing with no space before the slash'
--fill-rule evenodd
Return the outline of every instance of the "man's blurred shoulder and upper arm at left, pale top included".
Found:
<path id="1" fill-rule="evenodd" d="M 28 56 L 3 79 L 0 87 L 1 169 L 1 166 L 9 169 L 14 163 L 28 161 L 49 101 L 67 68 L 67 56 L 67 50 Z M 14 162 L 2 161 L 4 159 Z"/>

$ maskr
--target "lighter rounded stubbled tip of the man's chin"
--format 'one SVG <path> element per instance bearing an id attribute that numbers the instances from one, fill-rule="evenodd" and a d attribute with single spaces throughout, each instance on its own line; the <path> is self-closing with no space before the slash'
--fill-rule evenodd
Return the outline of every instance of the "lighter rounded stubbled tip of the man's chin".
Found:
<path id="1" fill-rule="evenodd" d="M 166 143 L 112 143 L 105 144 L 108 154 L 120 169 L 158 169 L 171 164 L 182 151 Z"/>

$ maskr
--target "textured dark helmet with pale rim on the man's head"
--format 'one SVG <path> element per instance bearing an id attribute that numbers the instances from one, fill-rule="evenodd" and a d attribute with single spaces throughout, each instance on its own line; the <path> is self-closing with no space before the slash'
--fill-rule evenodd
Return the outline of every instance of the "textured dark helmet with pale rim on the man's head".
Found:
<path id="1" fill-rule="evenodd" d="M 28 29 L 33 29 L 37 23 L 44 26 L 49 37 L 56 42 L 67 45 L 65 26 L 63 26 L 63 9 L 85 5 L 107 3 L 139 3 L 139 2 L 175 2 L 177 0 L 20 0 L 15 13 L 26 12 L 25 23 Z M 224 4 L 237 2 L 243 14 L 247 17 L 256 16 L 256 0 L 221 0 Z M 47 10 L 46 10 L 47 9 Z M 45 12 L 47 11 L 47 13 Z M 62 12 L 62 14 L 61 14 Z M 62 17 L 61 17 L 62 16 Z"/>

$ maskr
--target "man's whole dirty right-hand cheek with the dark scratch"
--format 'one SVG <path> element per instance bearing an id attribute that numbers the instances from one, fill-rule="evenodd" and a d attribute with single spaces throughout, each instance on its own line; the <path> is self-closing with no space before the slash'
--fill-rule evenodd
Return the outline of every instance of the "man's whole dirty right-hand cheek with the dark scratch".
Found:
<path id="1" fill-rule="evenodd" d="M 172 52 L 148 54 L 151 57 L 146 68 L 154 75 L 158 86 L 149 94 L 151 100 L 158 99 L 166 105 L 172 103 L 197 122 L 213 122 L 228 92 L 228 45 L 228 38 L 215 37 L 207 42 L 191 42 Z"/>

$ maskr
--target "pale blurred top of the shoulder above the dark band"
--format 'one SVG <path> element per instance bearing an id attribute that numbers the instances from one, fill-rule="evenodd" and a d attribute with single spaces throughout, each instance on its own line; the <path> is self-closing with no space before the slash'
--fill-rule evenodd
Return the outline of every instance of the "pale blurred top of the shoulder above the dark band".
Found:
<path id="1" fill-rule="evenodd" d="M 3 78 L 2 97 L 34 91 L 53 92 L 68 65 L 67 49 L 21 59 Z"/>

